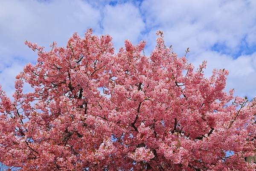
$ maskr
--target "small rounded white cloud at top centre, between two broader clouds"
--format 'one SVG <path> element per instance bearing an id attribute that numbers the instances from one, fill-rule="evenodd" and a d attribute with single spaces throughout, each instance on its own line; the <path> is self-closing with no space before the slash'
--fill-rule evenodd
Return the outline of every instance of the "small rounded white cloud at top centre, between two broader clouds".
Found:
<path id="1" fill-rule="evenodd" d="M 145 23 L 136 6 L 131 3 L 107 5 L 103 15 L 103 34 L 111 35 L 117 48 L 124 45 L 125 39 L 133 43 L 140 41 L 138 38 L 145 29 Z"/>

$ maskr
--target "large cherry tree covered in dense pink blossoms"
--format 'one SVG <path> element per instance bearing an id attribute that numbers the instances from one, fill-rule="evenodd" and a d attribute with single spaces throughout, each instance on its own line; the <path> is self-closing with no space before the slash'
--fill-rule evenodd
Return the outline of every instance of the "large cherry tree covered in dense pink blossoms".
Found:
<path id="1" fill-rule="evenodd" d="M 157 32 L 114 53 L 88 29 L 38 52 L 0 90 L 0 161 L 21 171 L 254 171 L 256 101 L 224 91 L 227 70 L 204 77 Z M 23 86 L 32 87 L 26 92 Z"/>

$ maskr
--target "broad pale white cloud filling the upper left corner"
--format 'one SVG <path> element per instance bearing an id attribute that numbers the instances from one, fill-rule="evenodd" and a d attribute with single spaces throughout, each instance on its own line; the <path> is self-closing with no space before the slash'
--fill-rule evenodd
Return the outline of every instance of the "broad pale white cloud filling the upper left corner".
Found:
<path id="1" fill-rule="evenodd" d="M 1 37 L 6 40 L 1 45 L 8 47 L 22 47 L 25 40 L 45 46 L 58 41 L 65 46 L 73 32 L 98 28 L 100 20 L 99 11 L 81 0 L 3 1 L 0 11 Z"/>

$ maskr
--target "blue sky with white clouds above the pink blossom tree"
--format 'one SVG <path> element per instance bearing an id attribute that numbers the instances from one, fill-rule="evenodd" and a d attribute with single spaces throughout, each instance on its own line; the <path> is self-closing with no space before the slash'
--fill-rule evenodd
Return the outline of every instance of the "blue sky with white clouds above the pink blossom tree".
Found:
<path id="1" fill-rule="evenodd" d="M 9 96 L 14 80 L 36 53 L 24 41 L 65 46 L 73 32 L 110 34 L 116 51 L 125 39 L 155 46 L 157 30 L 166 44 L 197 68 L 206 60 L 227 69 L 227 90 L 256 96 L 256 0 L 0 0 L 0 84 Z"/>

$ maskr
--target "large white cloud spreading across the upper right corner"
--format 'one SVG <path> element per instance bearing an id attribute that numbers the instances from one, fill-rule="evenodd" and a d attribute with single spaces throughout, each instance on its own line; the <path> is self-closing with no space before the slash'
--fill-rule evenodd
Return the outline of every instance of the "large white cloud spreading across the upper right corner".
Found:
<path id="1" fill-rule="evenodd" d="M 165 31 L 178 52 L 187 46 L 205 51 L 215 43 L 236 52 L 256 23 L 256 4 L 247 0 L 145 0 L 141 9 L 147 26 Z"/>

